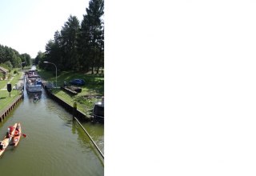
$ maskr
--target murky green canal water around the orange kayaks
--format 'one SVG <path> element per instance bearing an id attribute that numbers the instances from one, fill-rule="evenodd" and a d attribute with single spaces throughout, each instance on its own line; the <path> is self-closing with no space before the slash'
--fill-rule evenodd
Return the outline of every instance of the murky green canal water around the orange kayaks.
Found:
<path id="1" fill-rule="evenodd" d="M 90 138 L 72 121 L 72 114 L 42 91 L 38 102 L 25 91 L 24 101 L 0 123 L 0 139 L 8 126 L 21 122 L 18 146 L 8 146 L 0 158 L 1 175 L 104 175 L 104 161 Z M 1 102 L 0 102 L 1 103 Z M 104 125 L 81 122 L 104 154 Z"/>

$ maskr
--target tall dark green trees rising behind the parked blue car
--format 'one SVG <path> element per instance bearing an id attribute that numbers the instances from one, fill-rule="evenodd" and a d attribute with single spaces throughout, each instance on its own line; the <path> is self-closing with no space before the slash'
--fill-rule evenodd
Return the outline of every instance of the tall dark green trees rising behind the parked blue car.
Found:
<path id="1" fill-rule="evenodd" d="M 45 61 L 54 63 L 59 70 L 99 73 L 104 67 L 104 0 L 90 0 L 89 8 L 80 25 L 78 18 L 70 15 L 61 31 L 46 43 L 46 52 L 38 52 L 35 64 L 46 68 Z M 50 67 L 50 66 L 47 66 Z M 53 66 L 51 66 L 54 69 Z"/>

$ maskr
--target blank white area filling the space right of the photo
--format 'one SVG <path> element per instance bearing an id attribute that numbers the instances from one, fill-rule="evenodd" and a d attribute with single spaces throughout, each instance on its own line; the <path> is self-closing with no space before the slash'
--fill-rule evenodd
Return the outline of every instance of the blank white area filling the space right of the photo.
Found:
<path id="1" fill-rule="evenodd" d="M 106 175 L 255 175 L 256 2 L 106 2 Z"/>

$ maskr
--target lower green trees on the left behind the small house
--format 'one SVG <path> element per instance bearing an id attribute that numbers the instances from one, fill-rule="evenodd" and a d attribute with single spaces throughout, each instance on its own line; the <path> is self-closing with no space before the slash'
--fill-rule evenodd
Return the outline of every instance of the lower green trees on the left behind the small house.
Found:
<path id="1" fill-rule="evenodd" d="M 29 54 L 19 54 L 17 50 L 0 45 L 0 65 L 6 69 L 21 67 L 22 62 L 24 66 L 30 66 L 30 60 Z"/>

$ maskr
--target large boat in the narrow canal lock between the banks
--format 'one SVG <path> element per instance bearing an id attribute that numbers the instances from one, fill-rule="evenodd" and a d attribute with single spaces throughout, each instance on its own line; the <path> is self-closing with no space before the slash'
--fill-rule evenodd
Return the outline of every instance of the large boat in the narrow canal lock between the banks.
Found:
<path id="1" fill-rule="evenodd" d="M 35 66 L 28 71 L 26 77 L 26 91 L 29 93 L 42 92 L 42 80 Z"/>

